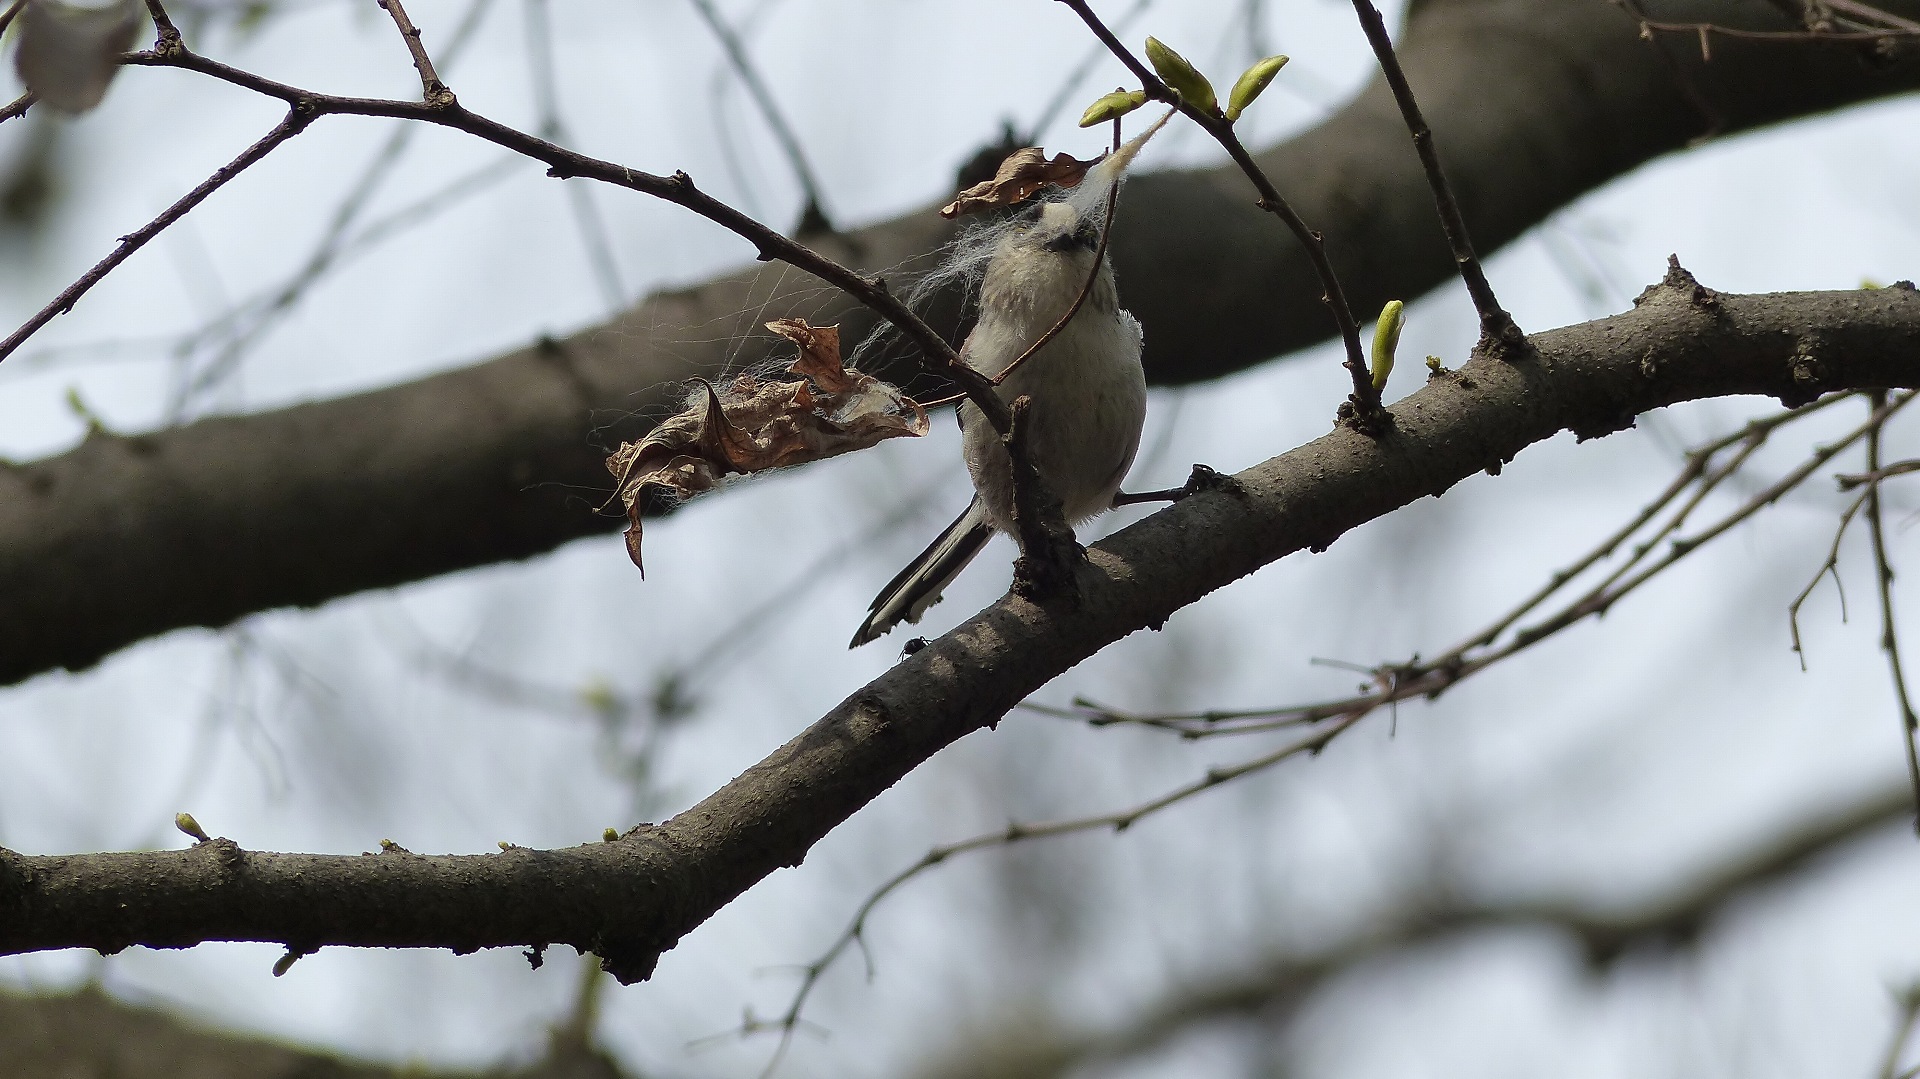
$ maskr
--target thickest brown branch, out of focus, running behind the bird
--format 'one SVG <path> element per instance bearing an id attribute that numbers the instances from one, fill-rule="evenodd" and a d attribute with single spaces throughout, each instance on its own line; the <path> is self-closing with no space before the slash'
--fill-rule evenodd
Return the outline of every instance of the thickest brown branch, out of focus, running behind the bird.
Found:
<path id="1" fill-rule="evenodd" d="M 1764 0 L 1676 0 L 1657 15 L 1789 25 Z M 1695 100 L 1738 132 L 1920 86 L 1920 52 L 1868 63 L 1843 44 L 1728 40 L 1711 65 L 1676 50 L 1670 69 L 1603 0 L 1427 0 L 1400 60 L 1484 250 L 1688 146 L 1709 123 Z M 1453 275 L 1384 84 L 1260 163 L 1327 234 L 1357 309 Z M 1154 382 L 1215 378 L 1321 338 L 1313 267 L 1238 171 L 1139 177 L 1119 217 L 1114 263 Z M 868 273 L 947 234 L 920 213 L 818 246 Z M 588 513 L 607 488 L 605 445 L 639 438 L 632 417 L 670 411 L 668 382 L 720 371 L 758 311 L 806 288 L 739 273 L 467 371 L 0 465 L 0 683 L 180 626 L 611 532 L 616 520 Z M 851 303 L 806 303 L 818 323 L 843 321 L 849 342 L 874 324 Z M 958 313 L 937 315 L 952 334 Z"/>

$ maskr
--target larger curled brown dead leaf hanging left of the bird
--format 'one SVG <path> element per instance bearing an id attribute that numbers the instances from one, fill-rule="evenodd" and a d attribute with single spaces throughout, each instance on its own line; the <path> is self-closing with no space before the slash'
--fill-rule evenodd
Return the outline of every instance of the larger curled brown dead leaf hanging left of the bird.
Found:
<path id="1" fill-rule="evenodd" d="M 841 365 L 839 326 L 780 319 L 766 328 L 799 346 L 795 380 L 741 374 L 726 390 L 695 378 L 687 405 L 611 457 L 626 507 L 626 553 L 639 561 L 639 520 L 653 493 L 685 499 L 730 474 L 764 472 L 927 434 L 927 411 L 897 386 Z"/>

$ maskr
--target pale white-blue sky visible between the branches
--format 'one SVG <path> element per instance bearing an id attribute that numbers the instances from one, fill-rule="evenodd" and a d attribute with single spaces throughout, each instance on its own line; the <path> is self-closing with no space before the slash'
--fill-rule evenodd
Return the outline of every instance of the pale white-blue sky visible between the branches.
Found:
<path id="1" fill-rule="evenodd" d="M 1597 2 L 1597 0 L 1596 0 Z M 465 0 L 409 8 L 432 48 Z M 732 17 L 751 6 L 724 4 Z M 1102 6 L 1110 15 L 1125 4 Z M 1154 33 L 1231 83 L 1248 60 L 1240 4 L 1162 0 L 1125 36 Z M 184 19 L 182 19 L 184 21 Z M 490 117 L 536 123 L 520 0 L 499 0 L 472 50 L 444 69 Z M 561 104 L 572 144 L 647 171 L 687 169 L 714 194 L 791 225 L 799 202 L 739 86 L 716 102 L 720 56 L 678 0 L 553 6 Z M 253 36 L 202 29 L 200 52 L 334 92 L 415 96 L 419 83 L 372 2 L 290 6 Z M 1352 10 L 1267 4 L 1275 48 L 1294 56 L 1252 109 L 1258 138 L 1313 123 L 1371 73 Z M 1031 123 L 1085 56 L 1071 15 L 1043 0 L 947 4 L 783 0 L 753 31 L 843 225 L 931 204 L 952 169 Z M 12 75 L 8 73 L 8 79 Z M 1081 104 L 1119 81 L 1098 67 L 1044 134 L 1087 154 Z M 724 83 L 724 81 L 722 81 Z M 17 92 L 4 88 L 10 100 Z M 263 134 L 278 106 L 179 71 L 127 71 L 65 132 L 71 184 L 40 246 L 0 250 L 0 323 L 23 321 L 113 238 Z M 0 167 L 27 123 L 0 127 Z M 741 190 L 718 148 L 745 161 Z M 117 430 L 165 419 L 165 340 L 292 273 L 388 121 L 328 117 L 215 194 L 0 365 L 0 453 L 73 445 L 75 390 Z M 1920 102 L 1882 104 L 1751 134 L 1657 163 L 1559 215 L 1492 259 L 1523 326 L 1626 305 L 1668 252 L 1709 286 L 1851 288 L 1920 276 Z M 1440 132 L 1444 138 L 1444 131 Z M 1444 148 L 1444 144 L 1442 144 Z M 1409 150 L 1411 152 L 1411 150 Z M 371 217 L 497 159 L 478 140 L 420 131 Z M 1142 167 L 1213 161 L 1171 127 Z M 1786 192 L 1786 194 L 1784 194 Z M 685 211 L 595 190 L 628 298 L 743 263 L 745 244 Z M 1288 242 L 1275 228 L 1273 242 Z M 1555 252 L 1601 267 L 1582 292 Z M 1125 282 L 1121 282 L 1125 290 Z M 607 315 L 559 182 L 532 163 L 328 275 L 252 351 L 238 378 L 194 413 L 246 411 L 459 367 L 541 332 Z M 778 315 L 778 311 L 768 313 Z M 1457 286 L 1415 303 L 1404 357 L 1465 355 L 1473 315 Z M 161 340 L 159 346 L 142 344 Z M 79 348 L 121 342 L 117 348 Z M 758 346 L 751 346 L 758 348 Z M 749 359 L 755 355 L 749 353 Z M 1417 388 L 1409 359 L 1388 396 Z M 1148 451 L 1129 486 L 1177 484 L 1192 461 L 1244 468 L 1327 430 L 1344 394 L 1329 348 L 1236 378 L 1158 394 Z M 1500 478 L 1296 557 L 1183 611 L 1044 689 L 1133 708 L 1246 707 L 1317 699 L 1357 676 L 1309 666 L 1434 653 L 1530 591 L 1644 499 L 1678 440 L 1728 430 L 1768 401 L 1678 409 L 1647 430 L 1555 440 Z M 1791 467 L 1832 422 L 1761 455 Z M 1908 420 L 1910 422 L 1910 420 Z M 964 505 L 950 424 L 839 463 L 743 484 L 649 528 L 641 582 L 616 538 L 524 564 L 273 612 L 238 632 L 182 632 L 81 676 L 0 691 L 0 845 L 75 852 L 184 845 L 192 810 L 250 849 L 357 852 L 382 837 L 415 851 L 589 841 L 636 812 L 684 808 L 764 756 L 883 670 L 897 639 L 841 641 L 872 591 Z M 1663 442 L 1665 436 L 1668 442 Z M 1889 453 L 1901 453 L 1895 438 Z M 1158 449 L 1156 449 L 1158 447 Z M 1849 467 L 1857 457 L 1845 459 Z M 1759 486 L 1755 482 L 1753 486 Z M 1751 490 L 1751 488 L 1743 488 Z M 904 501 L 924 513 L 881 528 Z M 1709 509 L 1730 509 L 1726 493 Z M 1914 543 L 1895 488 L 1895 557 Z M 1826 555 L 1839 497 L 1807 488 L 1697 555 L 1603 622 L 1580 626 L 1434 705 L 1377 716 L 1323 756 L 1296 760 L 1150 818 L 1123 837 L 1035 845 L 956 860 L 877 914 L 872 985 L 858 956 L 828 979 L 787 1075 L 897 1075 L 948 1048 L 1008 1037 L 1048 1016 L 1121 1023 L 1165 993 L 1231 975 L 1258 956 L 1327 939 L 1444 874 L 1469 895 L 1574 895 L 1632 902 L 1715 852 L 1786 820 L 1899 779 L 1891 693 L 1874 651 L 1864 538 L 1849 547 L 1853 620 L 1830 589 L 1807 609 L 1812 670 L 1788 651 L 1786 603 Z M 1139 511 L 1100 528 L 1133 520 Z M 877 532 L 877 536 L 876 536 Z M 739 622 L 835 545 L 852 553 L 774 614 Z M 933 609 L 943 632 L 1006 586 L 998 543 Z M 1910 595 L 1910 593 L 1908 593 Z M 1908 634 L 1920 630 L 1912 626 Z M 645 695 L 708 641 L 735 647 L 691 674 L 699 710 L 666 741 L 649 803 L 597 749 L 591 720 L 515 707 L 420 662 L 422 637 L 478 668 L 576 693 Z M 668 952 L 651 983 L 611 989 L 603 1039 L 649 1075 L 751 1075 L 770 1039 L 687 1043 L 778 1014 L 781 964 L 818 954 L 860 897 L 929 845 L 1008 820 L 1106 812 L 1277 743 L 1183 745 L 1016 714 L 916 772 Z M 1805 1075 L 1864 1073 L 1891 1018 L 1889 985 L 1920 975 L 1920 862 L 1885 835 L 1820 872 L 1738 902 L 1693 956 L 1636 956 L 1588 977 L 1548 931 L 1457 937 L 1365 968 L 1313 1002 L 1284 1039 L 1212 1029 L 1131 1069 L 1098 1075 L 1240 1075 L 1279 1054 L 1311 1075 Z M 213 1021 L 392 1060 L 480 1064 L 538 1052 L 574 991 L 570 952 L 530 971 L 516 952 L 332 948 L 286 977 L 278 948 L 215 945 L 0 960 L 15 985 L 100 975 L 134 1000 Z"/>

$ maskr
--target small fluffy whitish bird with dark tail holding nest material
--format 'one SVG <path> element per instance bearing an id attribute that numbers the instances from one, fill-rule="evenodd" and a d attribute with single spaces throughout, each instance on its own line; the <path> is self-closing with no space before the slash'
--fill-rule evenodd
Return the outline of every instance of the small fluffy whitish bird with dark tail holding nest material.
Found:
<path id="1" fill-rule="evenodd" d="M 979 284 L 979 323 L 960 359 L 996 376 L 1073 305 L 1094 269 L 1100 227 L 1073 202 L 1027 207 L 995 246 Z M 1119 309 L 1114 267 L 1102 261 L 1087 301 L 1046 348 L 998 386 L 1002 401 L 1029 397 L 1027 447 L 1069 524 L 1114 505 L 1146 420 L 1140 324 Z M 849 647 L 920 616 L 995 530 L 1014 534 L 1014 470 L 987 417 L 960 405 L 960 440 L 973 474 L 973 505 L 874 599 Z"/>

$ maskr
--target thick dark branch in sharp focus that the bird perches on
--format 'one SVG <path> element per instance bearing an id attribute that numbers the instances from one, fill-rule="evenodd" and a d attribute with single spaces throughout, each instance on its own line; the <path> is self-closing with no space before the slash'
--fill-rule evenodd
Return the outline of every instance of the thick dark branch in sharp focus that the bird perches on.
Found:
<path id="1" fill-rule="evenodd" d="M 998 722 L 1102 647 L 1260 566 L 1526 445 L 1630 426 L 1676 401 L 1920 386 L 1920 294 L 1720 296 L 1684 271 L 1634 311 L 1536 334 L 1400 401 L 1386 438 L 1346 428 L 1194 493 L 1089 551 L 1079 597 L 1002 597 L 843 701 L 701 804 L 612 843 L 501 854 L 248 852 L 228 841 L 134 854 L 0 854 L 0 952 L 202 941 L 572 945 L 647 977 L 660 950 L 760 877 L 795 866 L 941 747 Z"/>

